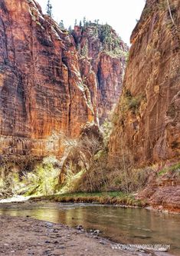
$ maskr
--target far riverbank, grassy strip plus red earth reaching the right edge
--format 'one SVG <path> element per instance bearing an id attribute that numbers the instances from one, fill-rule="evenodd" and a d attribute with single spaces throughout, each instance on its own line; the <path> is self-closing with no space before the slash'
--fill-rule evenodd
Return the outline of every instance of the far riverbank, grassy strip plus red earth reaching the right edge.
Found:
<path id="1" fill-rule="evenodd" d="M 94 203 L 94 204 L 112 204 L 119 205 L 125 208 L 131 207 L 141 207 L 149 208 L 155 211 L 169 212 L 172 214 L 180 214 L 180 208 L 177 205 L 172 207 L 172 204 L 165 204 L 159 202 L 159 204 L 154 204 L 153 201 L 149 201 L 144 198 L 136 198 L 137 194 L 125 194 L 120 191 L 110 191 L 110 192 L 92 192 L 92 193 L 67 193 L 67 194 L 52 194 L 40 197 L 31 197 L 31 201 L 54 201 L 60 203 Z M 162 194 L 163 197 L 163 194 Z"/>

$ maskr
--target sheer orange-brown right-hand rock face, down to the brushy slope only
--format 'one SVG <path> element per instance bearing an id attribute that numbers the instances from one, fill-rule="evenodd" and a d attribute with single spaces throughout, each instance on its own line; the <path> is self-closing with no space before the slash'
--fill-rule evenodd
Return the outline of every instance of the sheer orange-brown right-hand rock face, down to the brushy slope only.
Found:
<path id="1" fill-rule="evenodd" d="M 131 37 L 110 161 L 149 165 L 180 156 L 180 2 L 147 1 Z M 172 18 L 171 18 L 172 15 Z"/>

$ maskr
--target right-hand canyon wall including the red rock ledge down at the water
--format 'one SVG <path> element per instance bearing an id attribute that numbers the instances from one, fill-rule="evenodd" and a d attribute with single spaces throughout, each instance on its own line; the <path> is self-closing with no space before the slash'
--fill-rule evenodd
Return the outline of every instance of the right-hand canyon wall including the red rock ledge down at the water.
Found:
<path id="1" fill-rule="evenodd" d="M 147 0 L 131 36 L 108 162 L 126 175 L 132 170 L 136 198 L 180 212 L 180 1 L 169 4 Z"/>

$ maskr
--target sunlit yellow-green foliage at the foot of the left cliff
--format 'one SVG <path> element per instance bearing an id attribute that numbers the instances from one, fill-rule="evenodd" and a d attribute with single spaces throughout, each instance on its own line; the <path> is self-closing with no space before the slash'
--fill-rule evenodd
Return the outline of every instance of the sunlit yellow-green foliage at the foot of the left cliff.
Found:
<path id="1" fill-rule="evenodd" d="M 59 161 L 44 158 L 32 164 L 20 166 L 6 163 L 0 169 L 0 194 L 54 194 L 60 173 Z"/>

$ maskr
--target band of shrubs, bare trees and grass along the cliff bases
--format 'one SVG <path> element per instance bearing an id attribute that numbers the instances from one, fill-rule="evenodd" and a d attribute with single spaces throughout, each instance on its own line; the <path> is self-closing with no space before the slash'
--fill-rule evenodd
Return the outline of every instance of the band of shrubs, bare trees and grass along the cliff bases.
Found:
<path id="1" fill-rule="evenodd" d="M 76 140 L 64 136 L 66 145 L 65 158 L 57 160 L 47 157 L 41 160 L 21 160 L 1 164 L 0 194 L 53 195 L 58 201 L 98 201 L 140 205 L 133 200 L 133 193 L 142 191 L 149 183 L 149 178 L 159 183 L 166 183 L 180 178 L 180 163 L 170 163 L 162 168 L 152 165 L 148 168 L 133 168 L 126 158 L 113 159 L 113 165 L 107 162 L 107 143 L 110 136 L 110 123 L 103 125 L 103 131 L 97 137 L 90 131 L 90 137 L 82 135 Z M 97 130 L 95 130 L 97 132 Z M 102 135 L 103 141 L 102 141 Z M 100 137 L 99 137 L 100 136 Z M 79 191 L 78 194 L 75 192 Z M 90 194 L 103 191 L 103 194 Z M 107 191 L 112 191 L 106 194 Z M 119 194 L 113 191 L 122 191 Z M 66 194 L 66 193 L 75 193 Z M 85 194 L 84 194 L 85 193 Z M 113 194 L 115 193 L 115 194 Z M 129 196 L 128 196 L 129 194 Z M 97 198 L 96 198 L 96 196 Z M 95 197 L 93 197 L 95 196 Z M 115 197 L 115 198 L 114 198 Z M 116 198 L 117 197 L 117 198 Z M 100 199 L 101 198 L 101 199 Z M 132 199 L 132 201 L 131 201 Z M 143 200 L 142 200 L 143 201 Z"/>

